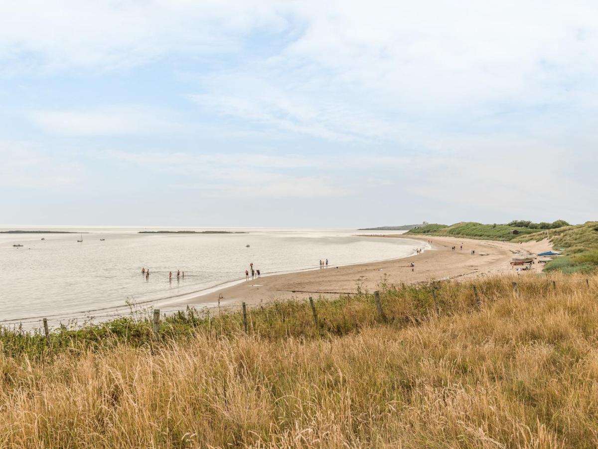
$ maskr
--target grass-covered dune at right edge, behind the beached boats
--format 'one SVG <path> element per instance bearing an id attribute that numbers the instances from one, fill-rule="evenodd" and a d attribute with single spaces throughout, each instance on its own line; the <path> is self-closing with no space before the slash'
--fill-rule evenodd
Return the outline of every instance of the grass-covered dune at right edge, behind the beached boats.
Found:
<path id="1" fill-rule="evenodd" d="M 598 222 L 583 225 L 563 226 L 558 229 L 535 232 L 516 241 L 542 240 L 550 238 L 556 251 L 563 253 L 546 264 L 545 271 L 588 273 L 598 270 Z"/>

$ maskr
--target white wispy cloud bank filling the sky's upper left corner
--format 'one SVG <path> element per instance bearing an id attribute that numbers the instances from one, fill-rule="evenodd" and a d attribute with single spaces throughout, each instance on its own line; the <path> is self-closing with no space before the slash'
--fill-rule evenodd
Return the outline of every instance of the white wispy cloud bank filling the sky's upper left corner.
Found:
<path id="1" fill-rule="evenodd" d="M 239 50 L 243 36 L 255 27 L 279 27 L 282 21 L 270 1 L 65 0 L 50 4 L 25 0 L 3 5 L 0 57 L 14 60 L 26 53 L 29 68 L 50 72 L 110 71 L 171 54 Z"/>

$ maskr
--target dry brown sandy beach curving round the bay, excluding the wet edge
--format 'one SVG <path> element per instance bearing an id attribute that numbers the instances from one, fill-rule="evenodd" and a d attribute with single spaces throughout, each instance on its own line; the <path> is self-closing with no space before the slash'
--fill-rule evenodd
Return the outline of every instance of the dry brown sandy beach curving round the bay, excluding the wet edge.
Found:
<path id="1" fill-rule="evenodd" d="M 388 235 L 386 238 L 410 238 L 413 235 Z M 213 304 L 221 297 L 221 305 L 237 305 L 241 302 L 258 304 L 274 299 L 305 299 L 309 296 L 334 297 L 340 293 L 356 293 L 358 289 L 373 292 L 381 282 L 387 284 L 413 284 L 432 280 L 468 278 L 504 272 L 516 274 L 509 262 L 515 254 L 535 254 L 551 249 L 547 240 L 517 244 L 512 242 L 474 240 L 449 237 L 428 237 L 419 239 L 422 247 L 429 240 L 431 249 L 420 254 L 385 262 L 304 271 L 290 274 L 264 276 L 235 286 L 227 287 L 207 295 L 173 304 L 202 305 Z M 451 247 L 456 246 L 456 250 Z M 463 245 L 463 250 L 460 246 Z M 475 254 L 471 254 L 475 250 Z M 409 266 L 413 262 L 413 271 Z M 542 265 L 532 265 L 541 271 Z"/>

